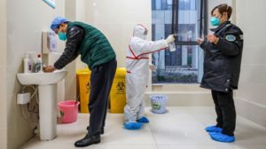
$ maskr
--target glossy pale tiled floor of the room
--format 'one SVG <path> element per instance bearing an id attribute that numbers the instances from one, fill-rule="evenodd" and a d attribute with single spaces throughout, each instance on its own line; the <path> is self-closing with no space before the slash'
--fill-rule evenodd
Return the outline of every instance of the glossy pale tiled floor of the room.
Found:
<path id="1" fill-rule="evenodd" d="M 214 107 L 168 107 L 167 114 L 153 114 L 146 108 L 150 119 L 140 130 L 122 128 L 122 114 L 108 114 L 106 134 L 101 143 L 85 148 L 93 149 L 266 149 L 266 129 L 238 117 L 236 142 L 218 143 L 210 139 L 204 128 L 215 123 Z M 74 141 L 84 137 L 89 114 L 79 114 L 77 122 L 59 124 L 58 137 L 41 142 L 30 140 L 23 149 L 72 149 Z"/>

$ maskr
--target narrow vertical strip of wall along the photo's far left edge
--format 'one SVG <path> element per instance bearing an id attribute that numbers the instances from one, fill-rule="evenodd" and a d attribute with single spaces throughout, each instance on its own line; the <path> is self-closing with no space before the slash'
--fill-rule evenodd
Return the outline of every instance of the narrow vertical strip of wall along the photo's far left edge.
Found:
<path id="1" fill-rule="evenodd" d="M 6 122 L 6 1 L 0 0 L 0 148 L 7 148 Z"/>

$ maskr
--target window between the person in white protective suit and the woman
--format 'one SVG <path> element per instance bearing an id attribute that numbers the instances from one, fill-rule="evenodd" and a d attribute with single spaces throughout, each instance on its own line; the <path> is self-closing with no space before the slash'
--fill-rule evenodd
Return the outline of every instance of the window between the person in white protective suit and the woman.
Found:
<path id="1" fill-rule="evenodd" d="M 176 51 L 153 53 L 153 83 L 198 83 L 203 51 L 198 37 L 207 35 L 207 0 L 153 0 L 153 40 L 176 35 Z M 172 17 L 174 16 L 174 17 Z"/>

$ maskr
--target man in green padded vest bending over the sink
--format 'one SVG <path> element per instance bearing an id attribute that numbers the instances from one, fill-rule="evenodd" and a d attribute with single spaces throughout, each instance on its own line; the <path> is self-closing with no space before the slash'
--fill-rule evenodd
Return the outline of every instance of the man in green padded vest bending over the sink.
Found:
<path id="1" fill-rule="evenodd" d="M 115 53 L 96 27 L 82 22 L 70 22 L 57 17 L 51 22 L 51 29 L 66 41 L 66 48 L 53 67 L 45 67 L 44 72 L 52 72 L 65 67 L 81 54 L 82 62 L 91 70 L 90 75 L 90 126 L 84 138 L 74 143 L 76 147 L 98 144 L 104 133 L 109 92 L 116 70 Z"/>

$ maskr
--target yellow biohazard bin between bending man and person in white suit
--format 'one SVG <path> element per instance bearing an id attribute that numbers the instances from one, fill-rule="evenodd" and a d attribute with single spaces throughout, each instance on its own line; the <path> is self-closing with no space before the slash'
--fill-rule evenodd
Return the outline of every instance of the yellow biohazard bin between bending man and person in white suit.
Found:
<path id="1" fill-rule="evenodd" d="M 110 105 L 112 114 L 123 114 L 126 106 L 126 68 L 116 69 L 113 85 L 110 91 Z"/>

